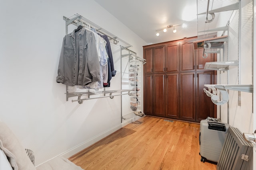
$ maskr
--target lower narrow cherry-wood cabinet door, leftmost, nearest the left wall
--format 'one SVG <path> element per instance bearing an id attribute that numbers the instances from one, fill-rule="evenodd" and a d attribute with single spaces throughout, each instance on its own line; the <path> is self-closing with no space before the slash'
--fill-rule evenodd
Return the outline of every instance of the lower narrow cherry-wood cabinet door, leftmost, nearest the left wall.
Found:
<path id="1" fill-rule="evenodd" d="M 153 115 L 152 74 L 145 74 L 144 76 L 144 113 Z"/>

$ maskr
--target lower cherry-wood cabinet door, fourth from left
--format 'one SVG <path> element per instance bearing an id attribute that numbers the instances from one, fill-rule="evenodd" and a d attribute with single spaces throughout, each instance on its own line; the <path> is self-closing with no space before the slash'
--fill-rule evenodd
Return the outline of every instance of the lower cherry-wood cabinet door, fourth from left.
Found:
<path id="1" fill-rule="evenodd" d="M 195 74 L 181 73 L 180 119 L 195 121 Z"/>

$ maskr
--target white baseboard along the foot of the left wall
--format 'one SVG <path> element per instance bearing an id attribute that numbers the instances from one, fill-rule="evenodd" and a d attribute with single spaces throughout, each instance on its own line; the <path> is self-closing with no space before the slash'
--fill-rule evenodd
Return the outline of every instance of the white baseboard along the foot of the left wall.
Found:
<path id="1" fill-rule="evenodd" d="M 66 152 L 60 154 L 60 156 L 63 156 L 64 158 L 69 158 L 70 156 L 73 156 L 74 154 L 80 152 L 81 150 L 86 149 L 87 147 L 90 147 L 91 145 L 100 141 L 104 137 L 107 137 L 108 135 L 114 133 L 115 131 L 121 129 L 122 127 L 124 127 L 124 126 L 128 125 L 129 123 L 132 123 L 140 118 L 141 118 L 140 116 L 136 116 L 131 119 L 128 119 L 128 120 L 120 123 L 119 125 L 112 127 L 111 129 L 108 129 L 107 131 L 101 133 L 100 135 L 97 135 L 97 136 L 93 137 L 92 139 L 89 139 L 88 141 L 85 141 L 84 143 L 81 143 L 80 145 L 78 145 L 70 150 L 67 150 Z"/>

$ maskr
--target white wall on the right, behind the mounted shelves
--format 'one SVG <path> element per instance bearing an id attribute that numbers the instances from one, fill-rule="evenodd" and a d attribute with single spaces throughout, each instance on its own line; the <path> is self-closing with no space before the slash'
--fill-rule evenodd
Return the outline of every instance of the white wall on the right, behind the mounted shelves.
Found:
<path id="1" fill-rule="evenodd" d="M 253 4 L 252 0 L 242 0 L 241 3 L 241 27 L 239 28 L 238 11 L 230 22 L 229 41 L 228 41 L 228 57 L 229 61 L 239 59 L 240 66 L 230 66 L 228 72 L 218 72 L 220 76 L 220 84 L 253 84 Z M 241 29 L 241 37 L 238 39 L 238 28 Z M 238 50 L 239 49 L 239 50 Z M 225 56 L 227 59 L 227 56 Z M 255 61 L 254 61 L 255 62 Z M 255 72 L 255 71 L 254 71 Z M 227 79 L 228 78 L 228 79 Z M 228 80 L 228 81 L 227 81 Z M 255 81 L 255 78 L 254 78 Z M 255 95 L 254 95 L 255 96 Z M 238 98 L 241 98 L 239 106 Z M 254 99 L 255 102 L 255 99 Z M 252 93 L 229 90 L 229 101 L 221 107 L 221 120 L 228 123 L 232 127 L 237 127 L 242 133 L 253 133 L 255 130 L 255 113 L 253 114 L 253 96 Z M 254 105 L 255 108 L 255 105 Z M 228 120 L 229 112 L 229 120 Z M 254 160 L 255 160 L 254 151 Z M 254 163 L 254 165 L 253 165 Z M 250 168 L 256 169 L 255 161 L 250 161 Z"/>

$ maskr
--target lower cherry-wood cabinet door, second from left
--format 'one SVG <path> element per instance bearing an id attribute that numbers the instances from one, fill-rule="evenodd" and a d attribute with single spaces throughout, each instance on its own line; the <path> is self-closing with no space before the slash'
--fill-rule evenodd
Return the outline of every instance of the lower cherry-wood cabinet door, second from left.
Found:
<path id="1" fill-rule="evenodd" d="M 153 86 L 153 105 L 154 115 L 165 116 L 165 90 L 164 90 L 164 77 L 165 74 L 154 74 L 154 86 Z"/>

